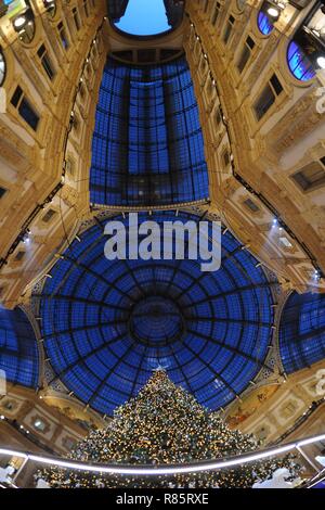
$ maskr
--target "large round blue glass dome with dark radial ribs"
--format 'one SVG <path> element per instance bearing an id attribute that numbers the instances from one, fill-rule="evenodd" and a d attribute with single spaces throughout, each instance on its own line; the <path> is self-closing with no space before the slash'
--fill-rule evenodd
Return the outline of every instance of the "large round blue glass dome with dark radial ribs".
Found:
<path id="1" fill-rule="evenodd" d="M 198 217 L 178 216 L 188 219 Z M 164 367 L 209 409 L 226 405 L 263 367 L 271 343 L 273 299 L 262 268 L 229 231 L 216 272 L 202 272 L 202 260 L 108 262 L 106 221 L 79 234 L 39 296 L 55 379 L 112 415 Z"/>

